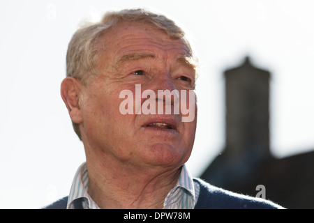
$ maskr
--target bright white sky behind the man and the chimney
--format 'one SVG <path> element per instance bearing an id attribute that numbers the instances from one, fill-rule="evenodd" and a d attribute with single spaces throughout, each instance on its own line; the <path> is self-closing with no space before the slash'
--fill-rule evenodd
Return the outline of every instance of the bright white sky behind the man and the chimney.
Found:
<path id="1" fill-rule="evenodd" d="M 314 1 L 1 1 L 0 208 L 68 194 L 85 159 L 59 93 L 68 42 L 80 21 L 131 7 L 170 15 L 193 37 L 202 63 L 193 176 L 222 151 L 222 73 L 247 54 L 272 74 L 271 152 L 314 149 Z"/>

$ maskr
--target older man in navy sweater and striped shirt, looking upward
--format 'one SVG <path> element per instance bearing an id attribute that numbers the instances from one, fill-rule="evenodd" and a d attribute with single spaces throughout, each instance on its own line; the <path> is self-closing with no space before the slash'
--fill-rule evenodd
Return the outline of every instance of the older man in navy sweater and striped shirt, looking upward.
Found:
<path id="1" fill-rule="evenodd" d="M 61 95 L 87 162 L 47 208 L 281 208 L 188 173 L 196 70 L 184 31 L 163 15 L 122 10 L 79 29 Z"/>

